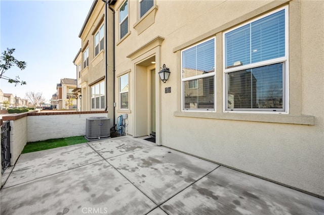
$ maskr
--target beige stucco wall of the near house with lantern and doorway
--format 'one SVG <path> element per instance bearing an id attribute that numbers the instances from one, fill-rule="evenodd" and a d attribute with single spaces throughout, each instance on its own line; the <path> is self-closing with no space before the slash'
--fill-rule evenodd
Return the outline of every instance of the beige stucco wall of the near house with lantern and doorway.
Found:
<path id="1" fill-rule="evenodd" d="M 324 2 L 155 0 L 139 19 L 138 1 L 130 1 L 129 32 L 119 40 L 118 10 L 123 3 L 112 6 L 116 11 L 115 97 L 116 115 L 128 114 L 130 135 L 150 133 L 150 71 L 155 69 L 157 144 L 324 196 Z M 288 113 L 224 112 L 223 32 L 285 6 L 289 11 Z M 216 38 L 216 110 L 184 112 L 181 50 L 212 37 Z M 166 83 L 157 75 L 163 64 L 171 71 Z M 120 110 L 118 77 L 126 73 L 130 103 L 128 110 Z M 171 93 L 165 93 L 166 87 L 171 87 Z"/>

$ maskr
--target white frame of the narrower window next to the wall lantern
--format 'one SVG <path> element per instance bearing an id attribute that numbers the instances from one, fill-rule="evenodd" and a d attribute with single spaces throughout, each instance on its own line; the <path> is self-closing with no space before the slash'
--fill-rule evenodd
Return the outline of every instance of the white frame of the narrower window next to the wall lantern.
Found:
<path id="1" fill-rule="evenodd" d="M 182 53 L 194 46 L 198 46 L 199 44 L 203 44 L 207 41 L 210 40 L 214 40 L 214 72 L 213 73 L 208 73 L 208 74 L 204 74 L 204 75 L 197 75 L 197 76 L 192 76 L 192 77 L 188 77 L 188 78 L 183 78 L 183 75 L 181 73 L 181 111 L 182 112 L 216 112 L 216 37 L 211 37 L 208 39 L 205 39 L 204 41 L 201 41 L 199 43 L 195 43 L 194 45 L 191 45 L 183 50 L 181 50 L 181 71 L 182 71 Z M 214 108 L 210 109 L 210 110 L 206 110 L 206 109 L 184 109 L 184 82 L 185 81 L 190 81 L 190 80 L 197 80 L 200 78 L 207 78 L 207 77 L 211 77 L 214 76 Z M 193 88 L 192 88 L 193 89 Z"/>

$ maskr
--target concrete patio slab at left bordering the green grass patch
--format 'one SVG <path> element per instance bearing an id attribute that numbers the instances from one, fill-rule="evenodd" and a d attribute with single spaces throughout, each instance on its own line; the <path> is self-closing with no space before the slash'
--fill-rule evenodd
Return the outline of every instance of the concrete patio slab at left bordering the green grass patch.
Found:
<path id="1" fill-rule="evenodd" d="M 21 154 L 4 187 L 103 160 L 87 143 Z"/>

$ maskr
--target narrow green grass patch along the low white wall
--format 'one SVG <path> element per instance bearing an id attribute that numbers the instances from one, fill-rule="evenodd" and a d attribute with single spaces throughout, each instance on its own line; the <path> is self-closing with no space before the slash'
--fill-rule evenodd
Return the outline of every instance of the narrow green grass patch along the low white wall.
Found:
<path id="1" fill-rule="evenodd" d="M 22 150 L 23 153 L 33 152 L 33 151 L 41 151 L 50 148 L 57 148 L 67 145 L 75 145 L 79 143 L 88 142 L 84 136 L 77 136 L 77 137 L 66 137 L 66 138 L 59 138 L 59 139 L 49 139 L 37 142 L 29 142 L 25 145 L 24 149 Z"/>

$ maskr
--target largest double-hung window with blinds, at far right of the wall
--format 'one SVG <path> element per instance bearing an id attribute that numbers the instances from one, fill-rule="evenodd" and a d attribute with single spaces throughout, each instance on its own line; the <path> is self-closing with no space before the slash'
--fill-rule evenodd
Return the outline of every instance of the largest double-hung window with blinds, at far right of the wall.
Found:
<path id="1" fill-rule="evenodd" d="M 225 111 L 287 106 L 288 8 L 224 33 Z"/>

